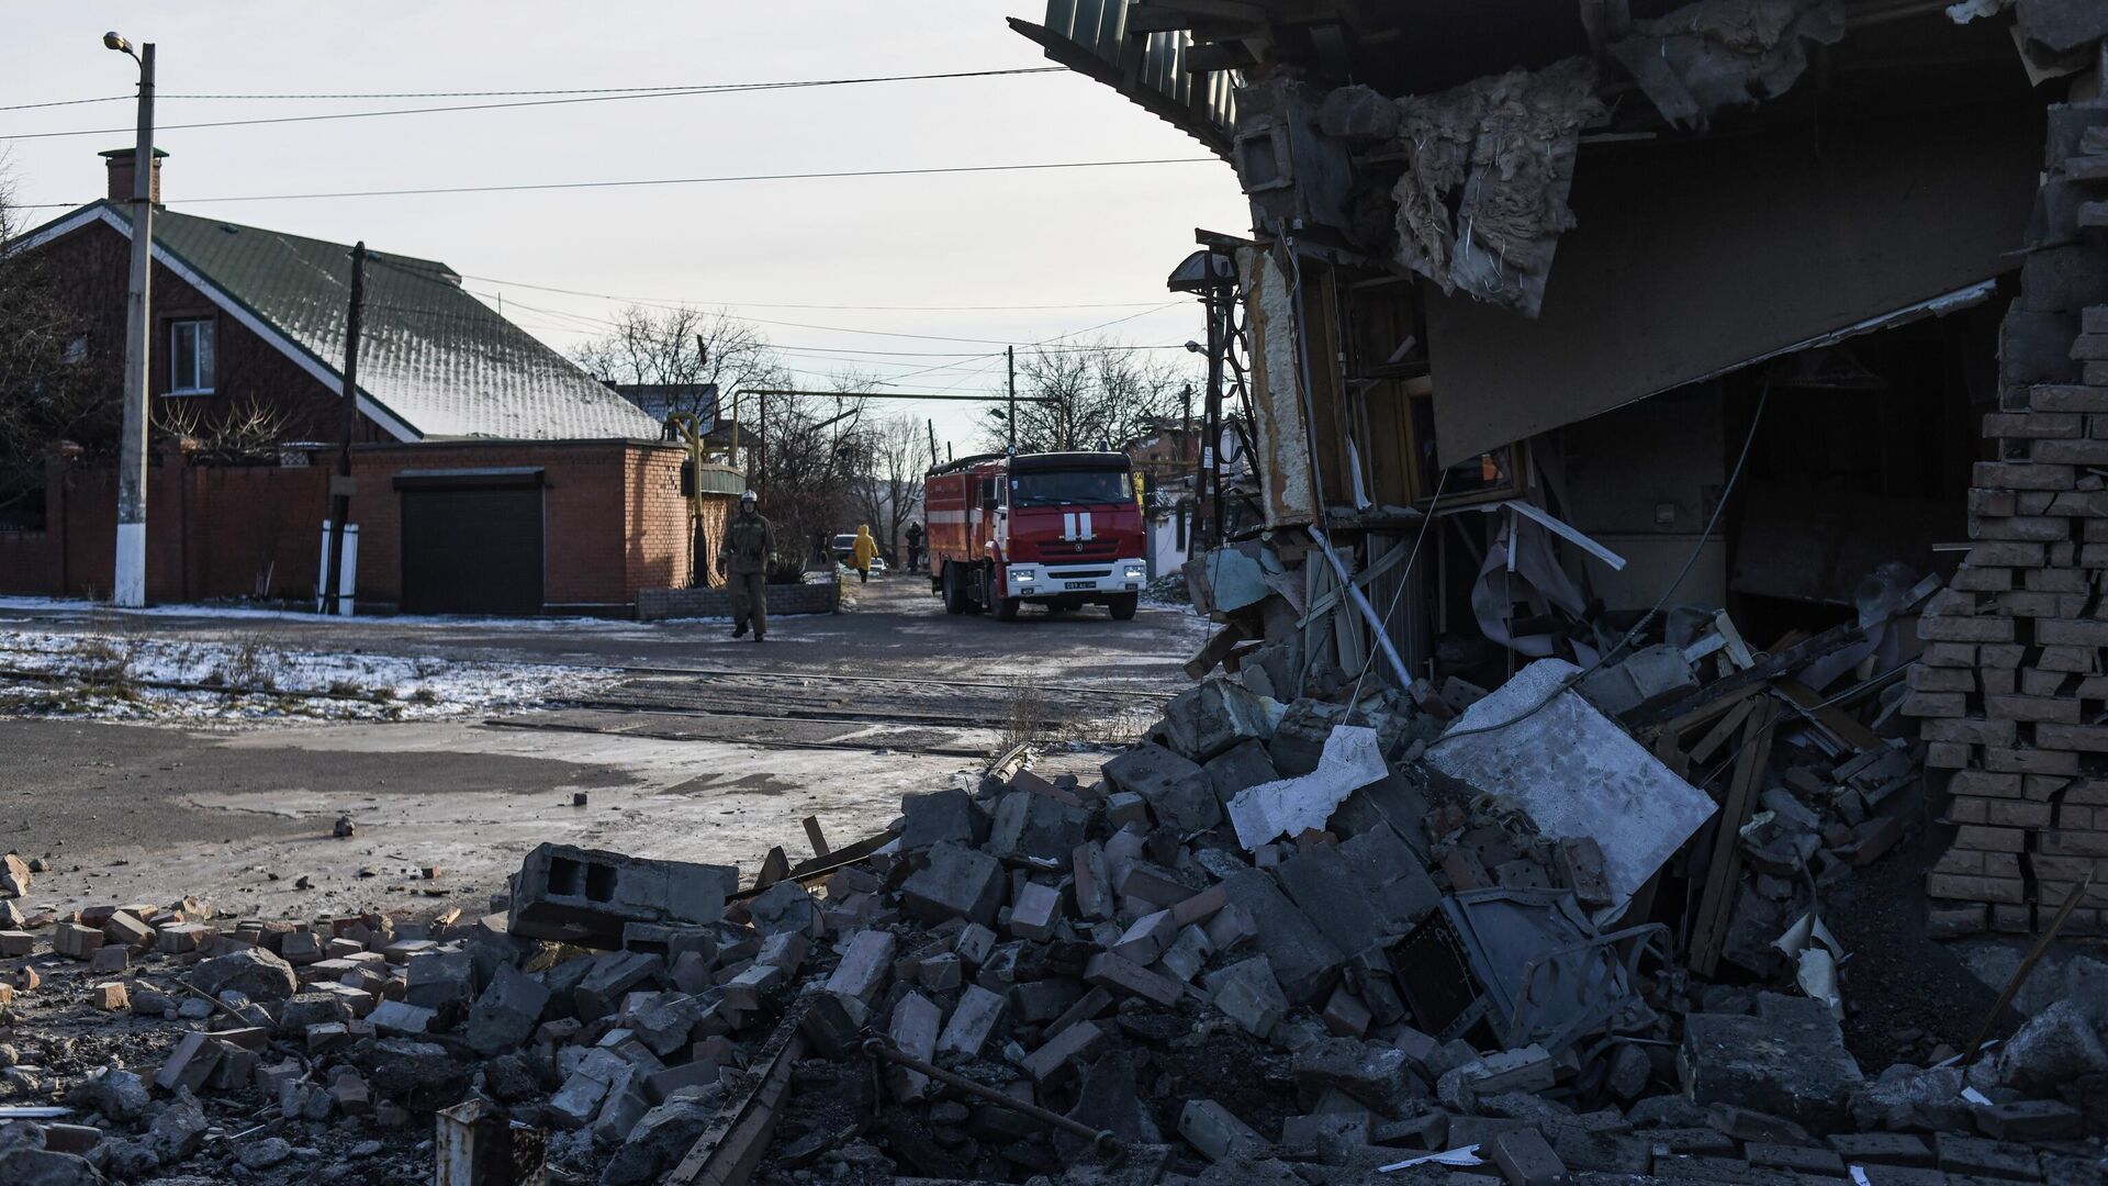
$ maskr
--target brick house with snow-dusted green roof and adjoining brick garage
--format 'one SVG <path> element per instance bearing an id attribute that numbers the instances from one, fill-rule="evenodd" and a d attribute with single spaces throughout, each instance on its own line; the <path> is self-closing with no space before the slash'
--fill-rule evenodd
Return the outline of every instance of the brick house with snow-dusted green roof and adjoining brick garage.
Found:
<path id="1" fill-rule="evenodd" d="M 133 154 L 103 156 L 110 198 L 8 245 L 46 260 L 82 352 L 124 333 Z M 344 433 L 350 247 L 162 209 L 158 156 L 154 196 L 148 595 L 310 597 Z M 706 574 L 696 555 L 744 485 L 736 471 L 706 466 L 691 515 L 685 447 L 441 262 L 369 251 L 363 317 L 363 610 L 624 612 L 637 589 Z M 202 466 L 169 441 L 238 407 L 276 422 L 278 464 Z M 42 532 L 0 532 L 0 591 L 108 589 L 114 471 L 55 458 L 44 506 Z"/>

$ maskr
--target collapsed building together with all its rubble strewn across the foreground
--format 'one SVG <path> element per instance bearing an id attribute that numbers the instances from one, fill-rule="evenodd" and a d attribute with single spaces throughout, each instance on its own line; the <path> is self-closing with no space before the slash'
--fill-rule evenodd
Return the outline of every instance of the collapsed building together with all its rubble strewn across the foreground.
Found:
<path id="1" fill-rule="evenodd" d="M 2104 929 L 2108 8 L 1018 27 L 1252 196 L 1172 276 L 1197 684 L 483 918 L 8 857 L 0 1182 L 2100 1182 L 2108 967 L 1927 933 Z"/>

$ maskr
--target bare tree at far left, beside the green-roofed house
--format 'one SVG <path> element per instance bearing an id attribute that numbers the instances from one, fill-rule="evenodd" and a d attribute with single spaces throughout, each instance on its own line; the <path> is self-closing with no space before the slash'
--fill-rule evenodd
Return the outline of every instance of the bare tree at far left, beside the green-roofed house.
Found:
<path id="1" fill-rule="evenodd" d="M 122 359 L 59 300 L 44 260 L 11 251 L 25 228 L 0 173 L 0 521 L 40 525 L 44 464 L 61 445 L 114 454 Z"/>

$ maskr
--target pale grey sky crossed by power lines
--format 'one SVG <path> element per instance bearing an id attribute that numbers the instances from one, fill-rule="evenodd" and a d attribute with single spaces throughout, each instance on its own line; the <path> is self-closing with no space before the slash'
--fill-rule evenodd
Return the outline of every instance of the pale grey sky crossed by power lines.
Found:
<path id="1" fill-rule="evenodd" d="M 175 95 L 521 91 L 784 82 L 1050 65 L 1003 17 L 1043 6 L 965 0 L 772 4 L 514 0 L 451 4 L 8 4 L 0 106 L 131 95 L 103 30 L 158 42 L 162 127 L 493 99 L 177 99 Z M 0 137 L 120 129 L 131 101 L 0 112 Z M 171 209 L 377 251 L 445 260 L 472 291 L 569 350 L 622 302 L 578 289 L 725 306 L 765 323 L 801 380 L 839 367 L 902 390 L 999 390 L 999 342 L 1128 319 L 1130 342 L 1199 338 L 1164 276 L 1193 228 L 1248 224 L 1227 165 L 1140 165 L 932 177 L 845 177 L 200 203 L 207 196 L 424 186 L 719 177 L 1052 160 L 1206 156 L 1170 125 L 1077 74 L 875 82 L 544 108 L 164 131 Z M 103 194 L 95 156 L 129 131 L 0 139 L 21 203 Z M 59 213 L 27 211 L 32 222 Z M 1155 306 L 1172 304 L 1151 312 Z M 885 308 L 788 308 L 885 306 Z M 900 306 L 1065 306 L 949 308 Z M 1140 314 L 1140 317 L 1134 317 Z M 862 331 L 862 333 L 856 333 Z M 885 333 L 885 336 L 873 336 Z M 944 342 L 930 338 L 972 338 Z M 797 350 L 807 352 L 797 352 Z M 858 350 L 826 355 L 828 350 Z M 898 355 L 881 355 L 896 350 Z M 995 352 L 963 359 L 938 352 Z M 909 355 L 919 352 L 919 355 Z M 921 367 L 942 367 L 911 376 Z M 972 405 L 913 405 L 968 445 Z"/>

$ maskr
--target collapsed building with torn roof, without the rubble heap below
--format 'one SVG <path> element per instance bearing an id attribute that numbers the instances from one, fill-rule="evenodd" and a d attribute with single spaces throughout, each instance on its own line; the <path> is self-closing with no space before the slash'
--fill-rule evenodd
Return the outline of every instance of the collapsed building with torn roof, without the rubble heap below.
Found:
<path id="1" fill-rule="evenodd" d="M 1857 620 L 1849 658 L 1771 684 L 1922 720 L 1956 772 L 1937 926 L 2041 931 L 2108 872 L 2100 4 L 1056 0 L 1012 25 L 1250 198 L 1252 234 L 1180 270 L 1212 281 L 1172 285 L 1208 295 L 1210 424 L 1256 462 L 1202 515 L 1231 530 L 1193 566 L 1223 620 L 1195 667 L 1294 696 L 1558 656 L 1670 696 Z M 1663 642 L 1695 663 L 1623 663 Z M 2104 907 L 2064 926 L 2108 933 Z"/>

